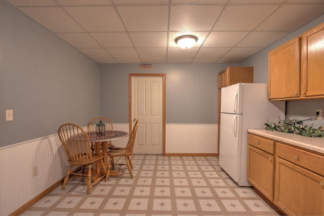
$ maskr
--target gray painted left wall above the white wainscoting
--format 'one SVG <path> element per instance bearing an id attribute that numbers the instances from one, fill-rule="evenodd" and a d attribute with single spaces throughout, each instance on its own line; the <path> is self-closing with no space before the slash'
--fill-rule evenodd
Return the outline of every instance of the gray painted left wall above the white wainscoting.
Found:
<path id="1" fill-rule="evenodd" d="M 0 147 L 86 126 L 99 114 L 99 64 L 0 0 Z M 14 120 L 6 121 L 6 109 Z"/>

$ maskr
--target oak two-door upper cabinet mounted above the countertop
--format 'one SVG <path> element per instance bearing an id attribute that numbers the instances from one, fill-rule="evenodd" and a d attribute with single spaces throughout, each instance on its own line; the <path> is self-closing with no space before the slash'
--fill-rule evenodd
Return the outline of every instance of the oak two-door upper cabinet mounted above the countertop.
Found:
<path id="1" fill-rule="evenodd" d="M 269 100 L 324 98 L 324 23 L 268 53 Z"/>

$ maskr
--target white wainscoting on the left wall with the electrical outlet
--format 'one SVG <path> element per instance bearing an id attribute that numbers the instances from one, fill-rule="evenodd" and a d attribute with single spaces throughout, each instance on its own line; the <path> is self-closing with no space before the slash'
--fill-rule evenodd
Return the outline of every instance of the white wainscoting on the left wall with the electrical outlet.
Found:
<path id="1" fill-rule="evenodd" d="M 37 176 L 32 176 L 37 166 Z M 57 135 L 0 148 L 0 215 L 8 215 L 64 177 L 68 162 Z"/>

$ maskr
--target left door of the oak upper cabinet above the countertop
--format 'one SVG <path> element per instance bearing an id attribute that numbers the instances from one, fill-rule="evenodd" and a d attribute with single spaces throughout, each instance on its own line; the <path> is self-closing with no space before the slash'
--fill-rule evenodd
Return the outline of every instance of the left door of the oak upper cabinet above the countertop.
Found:
<path id="1" fill-rule="evenodd" d="M 300 97 L 300 37 L 268 54 L 269 100 Z"/>

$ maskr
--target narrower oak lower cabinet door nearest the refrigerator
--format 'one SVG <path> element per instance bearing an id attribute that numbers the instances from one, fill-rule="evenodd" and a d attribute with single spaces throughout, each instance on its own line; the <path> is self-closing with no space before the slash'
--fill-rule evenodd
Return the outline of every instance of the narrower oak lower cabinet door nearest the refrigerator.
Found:
<path id="1" fill-rule="evenodd" d="M 274 156 L 248 145 L 248 180 L 272 201 Z"/>

